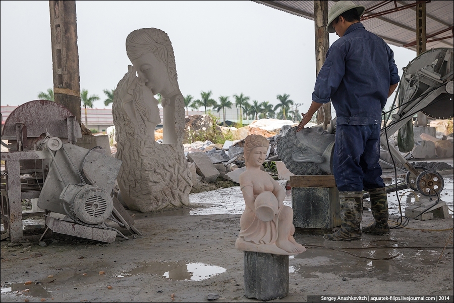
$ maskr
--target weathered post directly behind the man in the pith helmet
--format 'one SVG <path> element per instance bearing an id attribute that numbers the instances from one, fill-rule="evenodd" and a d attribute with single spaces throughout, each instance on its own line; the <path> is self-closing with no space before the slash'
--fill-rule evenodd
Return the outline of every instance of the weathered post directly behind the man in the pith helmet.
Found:
<path id="1" fill-rule="evenodd" d="M 328 2 L 314 1 L 314 24 L 315 24 L 315 70 L 316 75 L 320 72 L 325 62 L 326 52 L 329 48 L 329 33 L 326 31 L 328 25 Z M 331 121 L 331 103 L 328 102 L 317 111 L 317 124 L 323 123 L 326 130 Z"/>

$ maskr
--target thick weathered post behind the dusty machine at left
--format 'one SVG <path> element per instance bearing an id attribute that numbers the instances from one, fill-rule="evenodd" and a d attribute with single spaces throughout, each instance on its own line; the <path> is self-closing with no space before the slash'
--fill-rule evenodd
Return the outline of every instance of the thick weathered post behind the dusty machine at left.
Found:
<path id="1" fill-rule="evenodd" d="M 81 124 L 76 1 L 49 1 L 53 94 Z"/>

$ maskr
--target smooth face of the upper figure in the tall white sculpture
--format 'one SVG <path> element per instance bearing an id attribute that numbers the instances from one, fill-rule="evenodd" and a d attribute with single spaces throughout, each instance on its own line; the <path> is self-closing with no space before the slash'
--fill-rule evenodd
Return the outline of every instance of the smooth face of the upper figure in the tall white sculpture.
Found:
<path id="1" fill-rule="evenodd" d="M 153 95 L 161 93 L 165 85 L 169 84 L 167 67 L 152 53 L 147 53 L 137 59 L 131 60 L 139 78 L 151 89 Z"/>

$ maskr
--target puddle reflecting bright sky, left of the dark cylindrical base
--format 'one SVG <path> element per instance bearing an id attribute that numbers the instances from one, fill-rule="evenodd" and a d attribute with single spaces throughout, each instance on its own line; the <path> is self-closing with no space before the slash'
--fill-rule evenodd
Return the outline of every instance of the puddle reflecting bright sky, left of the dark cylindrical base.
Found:
<path id="1" fill-rule="evenodd" d="M 219 266 L 206 265 L 203 263 L 178 262 L 147 262 L 128 273 L 120 273 L 117 277 L 127 277 L 138 274 L 155 274 L 173 280 L 201 281 L 225 272 L 226 269 Z"/>

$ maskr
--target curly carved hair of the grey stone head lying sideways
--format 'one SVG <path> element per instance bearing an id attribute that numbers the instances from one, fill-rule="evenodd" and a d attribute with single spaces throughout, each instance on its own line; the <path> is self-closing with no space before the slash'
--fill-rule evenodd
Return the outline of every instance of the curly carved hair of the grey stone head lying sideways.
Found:
<path id="1" fill-rule="evenodd" d="M 314 162 L 296 162 L 292 155 L 296 150 L 307 150 L 296 136 L 298 126 L 292 127 L 277 143 L 277 155 L 286 167 L 295 175 L 326 175 Z"/>

